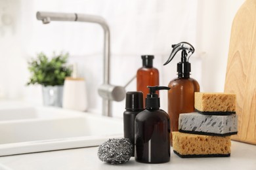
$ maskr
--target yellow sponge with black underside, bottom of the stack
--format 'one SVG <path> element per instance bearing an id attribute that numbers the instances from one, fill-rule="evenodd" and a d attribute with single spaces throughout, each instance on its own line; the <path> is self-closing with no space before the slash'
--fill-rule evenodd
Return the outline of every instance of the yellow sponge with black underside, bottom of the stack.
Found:
<path id="1" fill-rule="evenodd" d="M 228 157 L 230 136 L 194 135 L 173 131 L 173 151 L 181 158 Z"/>

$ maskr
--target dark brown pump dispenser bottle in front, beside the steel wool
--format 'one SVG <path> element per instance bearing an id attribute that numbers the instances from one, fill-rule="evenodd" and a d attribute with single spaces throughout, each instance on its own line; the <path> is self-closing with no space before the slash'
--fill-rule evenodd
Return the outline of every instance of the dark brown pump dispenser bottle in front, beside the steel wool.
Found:
<path id="1" fill-rule="evenodd" d="M 170 119 L 160 109 L 156 90 L 169 90 L 163 86 L 148 86 L 146 109 L 135 118 L 135 160 L 142 163 L 165 163 L 170 160 Z"/>

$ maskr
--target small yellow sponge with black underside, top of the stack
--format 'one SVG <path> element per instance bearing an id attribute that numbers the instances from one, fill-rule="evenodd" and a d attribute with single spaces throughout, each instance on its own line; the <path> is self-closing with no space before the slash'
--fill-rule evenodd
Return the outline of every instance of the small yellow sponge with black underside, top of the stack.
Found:
<path id="1" fill-rule="evenodd" d="M 195 108 L 202 114 L 233 114 L 236 94 L 195 92 Z"/>

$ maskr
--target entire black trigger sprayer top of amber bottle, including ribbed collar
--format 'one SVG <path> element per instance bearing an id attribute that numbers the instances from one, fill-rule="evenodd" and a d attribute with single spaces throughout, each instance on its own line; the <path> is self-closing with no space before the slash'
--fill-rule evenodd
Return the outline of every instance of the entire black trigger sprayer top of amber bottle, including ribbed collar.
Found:
<path id="1" fill-rule="evenodd" d="M 173 47 L 171 55 L 163 65 L 167 65 L 167 63 L 169 63 L 174 58 L 177 52 L 179 52 L 179 50 L 182 50 L 181 62 L 177 63 L 178 77 L 189 78 L 191 72 L 191 64 L 188 62 L 188 59 L 194 53 L 195 48 L 188 42 L 180 42 L 179 44 L 173 44 L 171 47 Z"/>

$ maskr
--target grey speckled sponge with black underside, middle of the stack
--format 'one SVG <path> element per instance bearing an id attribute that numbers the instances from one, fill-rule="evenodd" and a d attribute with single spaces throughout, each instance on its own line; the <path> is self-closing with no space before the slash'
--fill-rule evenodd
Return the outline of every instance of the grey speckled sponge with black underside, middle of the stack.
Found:
<path id="1" fill-rule="evenodd" d="M 179 131 L 199 135 L 226 136 L 238 133 L 236 114 L 203 115 L 197 112 L 179 115 Z"/>

